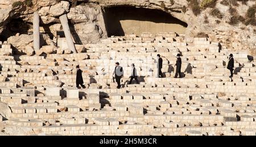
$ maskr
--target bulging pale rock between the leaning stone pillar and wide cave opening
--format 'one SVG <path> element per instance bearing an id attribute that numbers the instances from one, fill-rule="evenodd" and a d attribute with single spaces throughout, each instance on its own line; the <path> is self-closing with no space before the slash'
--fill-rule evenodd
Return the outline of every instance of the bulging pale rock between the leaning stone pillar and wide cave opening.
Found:
<path id="1" fill-rule="evenodd" d="M 100 6 L 89 3 L 84 6 L 72 7 L 67 16 L 75 23 L 75 30 L 71 31 L 73 34 L 78 34 L 77 37 L 79 38 L 74 38 L 77 43 L 97 42 L 101 37 L 106 37 L 104 18 Z"/>

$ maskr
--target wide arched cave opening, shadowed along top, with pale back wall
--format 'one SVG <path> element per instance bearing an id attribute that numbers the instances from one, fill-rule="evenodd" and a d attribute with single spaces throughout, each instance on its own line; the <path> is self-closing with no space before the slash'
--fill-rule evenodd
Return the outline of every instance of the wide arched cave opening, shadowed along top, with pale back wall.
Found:
<path id="1" fill-rule="evenodd" d="M 174 18 L 167 12 L 136 7 L 105 7 L 104 21 L 108 36 L 125 36 L 143 32 L 156 34 L 159 32 L 185 33 L 187 23 Z"/>

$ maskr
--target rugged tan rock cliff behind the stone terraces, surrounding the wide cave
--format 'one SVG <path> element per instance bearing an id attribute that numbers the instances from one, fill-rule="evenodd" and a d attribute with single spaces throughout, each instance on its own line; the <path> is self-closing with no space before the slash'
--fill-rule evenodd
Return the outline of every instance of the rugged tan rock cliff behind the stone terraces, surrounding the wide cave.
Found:
<path id="1" fill-rule="evenodd" d="M 0 39 L 7 40 L 16 33 L 32 34 L 33 12 L 39 11 L 40 32 L 53 42 L 56 31 L 61 29 L 59 16 L 63 14 L 68 15 L 76 44 L 97 42 L 108 35 L 105 8 L 117 6 L 161 10 L 187 23 L 187 36 L 207 34 L 224 47 L 255 49 L 254 0 L 0 0 Z M 20 38 L 16 36 L 16 40 Z"/>

